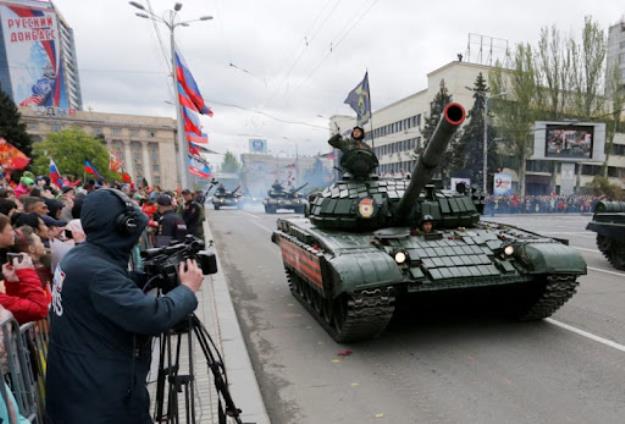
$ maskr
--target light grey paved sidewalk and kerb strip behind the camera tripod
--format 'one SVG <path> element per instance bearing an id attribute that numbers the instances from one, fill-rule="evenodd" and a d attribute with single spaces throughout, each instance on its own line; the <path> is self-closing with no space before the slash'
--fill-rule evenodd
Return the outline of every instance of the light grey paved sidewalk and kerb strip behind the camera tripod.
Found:
<path id="1" fill-rule="evenodd" d="M 208 222 L 204 223 L 204 233 L 207 242 L 213 239 Z M 208 244 L 208 243 L 207 243 Z M 239 327 L 232 298 L 219 263 L 219 251 L 216 249 L 219 272 L 206 277 L 202 290 L 198 293 L 197 317 L 204 323 L 209 334 L 217 345 L 226 364 L 230 393 L 235 405 L 243 412 L 241 420 L 244 423 L 269 424 L 269 417 L 265 404 L 258 388 L 256 375 L 249 359 L 247 347 Z M 188 370 L 186 358 L 186 339 L 183 339 L 181 350 L 180 374 Z M 193 341 L 193 367 L 196 391 L 197 423 L 217 424 L 217 394 L 213 386 L 213 376 L 208 371 L 206 361 L 199 344 Z M 154 362 L 154 360 L 153 360 Z M 156 384 L 148 386 L 152 405 L 155 399 Z M 178 396 L 180 422 L 185 422 L 184 395 Z M 151 408 L 153 411 L 153 406 Z M 230 422 L 230 421 L 229 421 Z"/>

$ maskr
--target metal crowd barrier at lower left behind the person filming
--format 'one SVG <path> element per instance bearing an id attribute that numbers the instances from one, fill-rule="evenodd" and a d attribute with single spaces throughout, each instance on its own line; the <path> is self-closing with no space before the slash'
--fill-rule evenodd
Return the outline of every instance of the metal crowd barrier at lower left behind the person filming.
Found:
<path id="1" fill-rule="evenodd" d="M 9 421 L 17 423 L 19 413 L 33 424 L 43 424 L 45 411 L 45 370 L 48 352 L 48 321 L 24 324 L 7 315 L 0 320 L 0 366 L 6 387 L 0 381 L 0 396 L 7 411 L 13 408 L 7 389 L 15 397 L 15 416 L 8 414 Z"/>

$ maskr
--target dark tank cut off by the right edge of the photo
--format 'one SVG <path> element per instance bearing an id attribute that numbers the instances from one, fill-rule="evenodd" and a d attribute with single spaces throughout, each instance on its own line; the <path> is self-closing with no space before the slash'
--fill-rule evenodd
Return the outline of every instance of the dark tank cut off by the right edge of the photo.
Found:
<path id="1" fill-rule="evenodd" d="M 586 229 L 597 233 L 597 248 L 612 266 L 625 271 L 625 202 L 598 202 Z"/>

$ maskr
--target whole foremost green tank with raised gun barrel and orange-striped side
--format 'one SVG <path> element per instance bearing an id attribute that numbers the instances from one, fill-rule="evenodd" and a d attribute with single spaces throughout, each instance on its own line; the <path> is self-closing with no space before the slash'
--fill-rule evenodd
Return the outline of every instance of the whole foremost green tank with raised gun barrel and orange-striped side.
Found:
<path id="1" fill-rule="evenodd" d="M 336 341 L 378 336 L 404 297 L 494 288 L 506 312 L 540 320 L 574 295 L 586 263 L 565 240 L 480 221 L 481 193 L 428 185 L 464 119 L 444 108 L 410 179 L 378 177 L 368 146 L 333 137 L 342 178 L 309 197 L 306 217 L 277 220 L 290 291 Z"/>

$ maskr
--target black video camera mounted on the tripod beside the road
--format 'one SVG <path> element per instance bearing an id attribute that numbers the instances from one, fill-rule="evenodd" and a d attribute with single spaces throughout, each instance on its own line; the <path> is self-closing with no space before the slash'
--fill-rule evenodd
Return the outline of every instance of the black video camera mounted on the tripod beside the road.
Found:
<path id="1" fill-rule="evenodd" d="M 163 293 L 180 284 L 178 267 L 187 259 L 195 259 L 204 275 L 217 273 L 215 252 L 212 249 L 204 250 L 204 242 L 192 235 L 187 235 L 184 241 L 169 246 L 143 250 L 141 257 L 144 259 L 143 272 L 150 285 L 161 289 Z"/>

